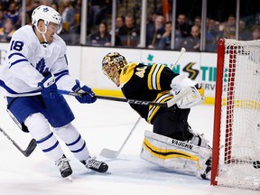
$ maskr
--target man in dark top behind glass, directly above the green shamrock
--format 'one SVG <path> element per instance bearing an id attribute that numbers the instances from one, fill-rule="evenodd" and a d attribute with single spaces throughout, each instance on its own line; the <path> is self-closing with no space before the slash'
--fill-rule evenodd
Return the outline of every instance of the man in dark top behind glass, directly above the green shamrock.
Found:
<path id="1" fill-rule="evenodd" d="M 157 15 L 154 23 L 147 25 L 146 47 L 149 49 L 158 48 L 164 32 L 164 17 Z"/>

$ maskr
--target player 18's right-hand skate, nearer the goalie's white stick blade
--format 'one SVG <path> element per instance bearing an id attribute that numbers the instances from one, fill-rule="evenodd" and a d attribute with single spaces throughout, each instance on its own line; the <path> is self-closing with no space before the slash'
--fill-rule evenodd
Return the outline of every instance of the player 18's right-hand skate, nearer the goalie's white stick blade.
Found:
<path id="1" fill-rule="evenodd" d="M 81 161 L 88 169 L 95 172 L 107 172 L 107 163 L 96 160 L 96 157 L 88 157 L 86 161 Z"/>

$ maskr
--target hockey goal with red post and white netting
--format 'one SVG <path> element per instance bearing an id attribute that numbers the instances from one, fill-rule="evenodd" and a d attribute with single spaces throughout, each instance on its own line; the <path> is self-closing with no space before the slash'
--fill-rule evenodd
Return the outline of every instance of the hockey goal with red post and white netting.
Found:
<path id="1" fill-rule="evenodd" d="M 260 40 L 218 41 L 211 184 L 260 189 Z"/>

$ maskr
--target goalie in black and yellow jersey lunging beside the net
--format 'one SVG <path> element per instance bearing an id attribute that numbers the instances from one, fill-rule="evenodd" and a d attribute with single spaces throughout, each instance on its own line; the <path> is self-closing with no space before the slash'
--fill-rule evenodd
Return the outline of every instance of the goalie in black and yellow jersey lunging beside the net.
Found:
<path id="1" fill-rule="evenodd" d="M 164 103 L 182 89 L 193 88 L 192 94 L 172 107 L 130 106 L 153 125 L 153 133 L 145 131 L 141 158 L 174 171 L 209 179 L 211 147 L 188 123 L 190 107 L 204 101 L 204 89 L 163 64 L 127 63 L 117 52 L 110 52 L 103 58 L 102 70 L 128 99 Z"/>

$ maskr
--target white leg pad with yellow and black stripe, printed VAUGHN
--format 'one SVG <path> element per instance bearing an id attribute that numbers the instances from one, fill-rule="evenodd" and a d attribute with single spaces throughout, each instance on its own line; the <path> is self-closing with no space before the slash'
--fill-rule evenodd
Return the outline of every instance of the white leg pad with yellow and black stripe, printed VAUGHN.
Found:
<path id="1" fill-rule="evenodd" d="M 164 168 L 201 178 L 211 158 L 211 151 L 149 131 L 144 133 L 140 157 Z"/>

